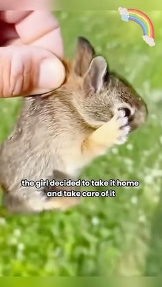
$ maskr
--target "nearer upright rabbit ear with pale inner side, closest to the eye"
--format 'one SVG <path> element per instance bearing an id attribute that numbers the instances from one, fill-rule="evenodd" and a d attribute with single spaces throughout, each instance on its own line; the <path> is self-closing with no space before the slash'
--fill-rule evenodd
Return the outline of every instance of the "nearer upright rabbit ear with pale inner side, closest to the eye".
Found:
<path id="1" fill-rule="evenodd" d="M 89 70 L 84 76 L 83 88 L 86 92 L 99 92 L 104 87 L 108 64 L 104 57 L 98 55 L 93 58 Z"/>

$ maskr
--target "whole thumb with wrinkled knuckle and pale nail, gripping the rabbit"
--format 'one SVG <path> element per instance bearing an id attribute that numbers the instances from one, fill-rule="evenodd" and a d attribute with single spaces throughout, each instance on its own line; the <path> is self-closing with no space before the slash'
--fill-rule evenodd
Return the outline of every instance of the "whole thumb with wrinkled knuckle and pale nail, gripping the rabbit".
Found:
<path id="1" fill-rule="evenodd" d="M 0 48 L 0 95 L 36 95 L 58 88 L 65 68 L 55 55 L 34 47 Z"/>

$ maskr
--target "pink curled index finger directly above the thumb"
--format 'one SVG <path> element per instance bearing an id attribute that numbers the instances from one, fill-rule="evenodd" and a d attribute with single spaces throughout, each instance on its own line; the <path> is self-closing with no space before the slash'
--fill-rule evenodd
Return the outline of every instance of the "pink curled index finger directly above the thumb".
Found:
<path id="1" fill-rule="evenodd" d="M 34 11 L 15 25 L 23 44 L 33 44 L 62 58 L 63 45 L 58 21 L 49 11 Z"/>

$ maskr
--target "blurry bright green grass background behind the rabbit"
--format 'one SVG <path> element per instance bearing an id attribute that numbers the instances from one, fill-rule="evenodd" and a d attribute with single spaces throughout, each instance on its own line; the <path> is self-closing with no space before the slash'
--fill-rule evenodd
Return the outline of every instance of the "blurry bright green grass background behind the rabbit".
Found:
<path id="1" fill-rule="evenodd" d="M 118 12 L 56 16 L 66 55 L 72 57 L 77 36 L 85 36 L 137 89 L 149 110 L 146 125 L 125 145 L 87 166 L 82 178 L 139 180 L 140 186 L 115 188 L 115 198 L 83 199 L 65 213 L 11 216 L 0 211 L 0 275 L 161 275 L 162 12 L 148 12 L 154 47 L 143 42 L 137 24 L 124 23 Z M 9 134 L 20 103 L 0 100 L 1 141 Z"/>

